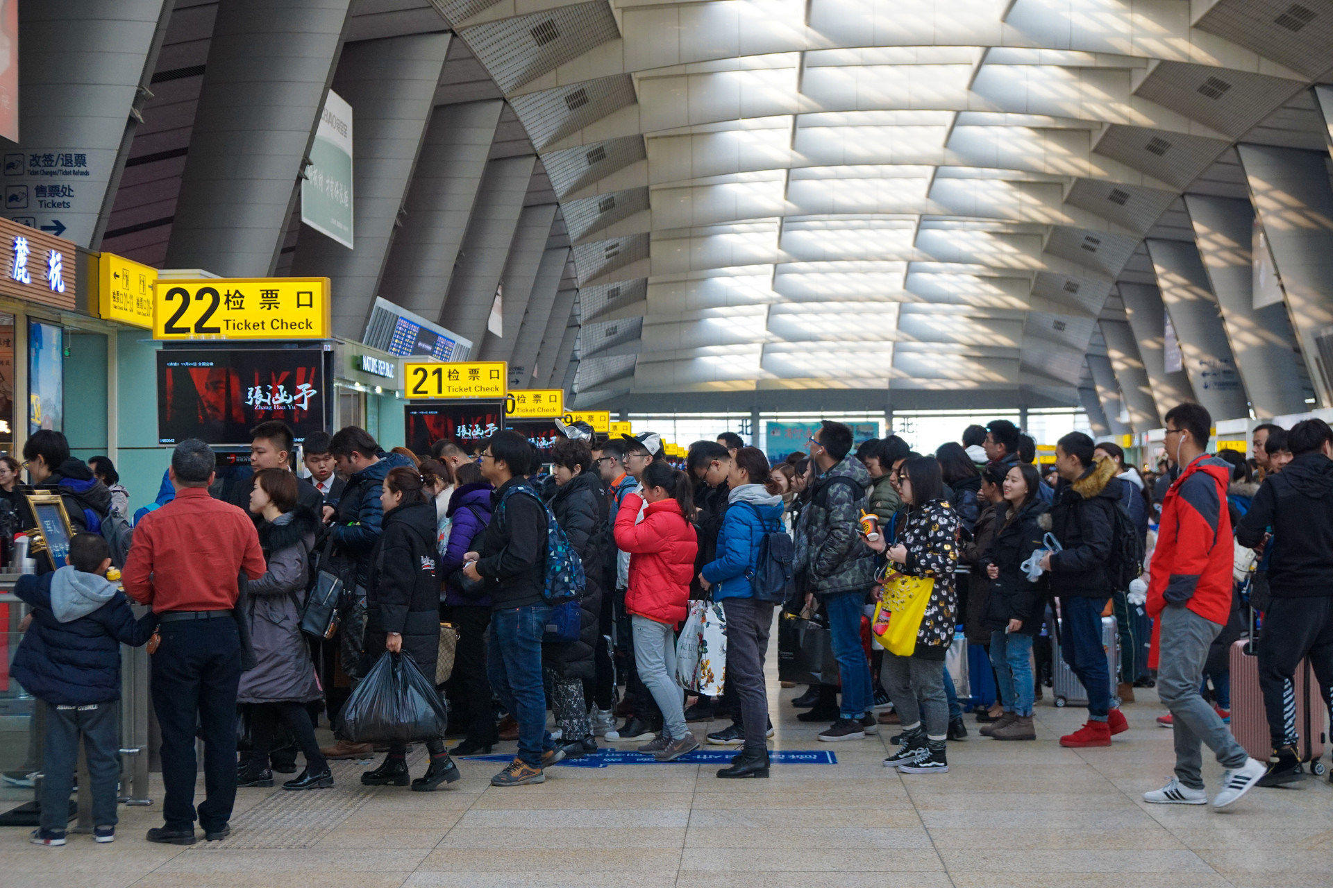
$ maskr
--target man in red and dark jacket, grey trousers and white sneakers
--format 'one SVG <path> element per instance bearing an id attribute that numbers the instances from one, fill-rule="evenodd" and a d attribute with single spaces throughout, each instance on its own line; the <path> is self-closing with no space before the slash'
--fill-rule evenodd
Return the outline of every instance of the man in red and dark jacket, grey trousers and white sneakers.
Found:
<path id="1" fill-rule="evenodd" d="M 1176 776 L 1144 793 L 1158 804 L 1206 804 L 1200 742 L 1226 768 L 1213 807 L 1250 791 L 1266 767 L 1249 758 L 1198 690 L 1208 648 L 1232 611 L 1232 519 L 1226 510 L 1230 463 L 1204 451 L 1213 419 L 1201 405 L 1166 413 L 1166 455 L 1182 471 L 1162 499 L 1162 518 L 1148 584 L 1153 618 L 1149 666 L 1157 667 L 1157 695 L 1172 714 Z"/>

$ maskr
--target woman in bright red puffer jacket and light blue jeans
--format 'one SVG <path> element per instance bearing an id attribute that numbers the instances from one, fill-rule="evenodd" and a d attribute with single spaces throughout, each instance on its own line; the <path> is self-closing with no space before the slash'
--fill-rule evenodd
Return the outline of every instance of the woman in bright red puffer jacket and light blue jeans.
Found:
<path id="1" fill-rule="evenodd" d="M 685 619 L 689 582 L 694 575 L 698 538 L 689 517 L 694 511 L 693 489 L 685 473 L 665 462 L 651 462 L 640 478 L 641 499 L 629 494 L 616 515 L 616 546 L 629 553 L 629 587 L 625 611 L 635 634 L 635 666 L 639 678 L 663 711 L 661 736 L 639 748 L 659 762 L 670 762 L 698 748 L 685 727 L 680 686 L 676 684 L 676 624 Z"/>

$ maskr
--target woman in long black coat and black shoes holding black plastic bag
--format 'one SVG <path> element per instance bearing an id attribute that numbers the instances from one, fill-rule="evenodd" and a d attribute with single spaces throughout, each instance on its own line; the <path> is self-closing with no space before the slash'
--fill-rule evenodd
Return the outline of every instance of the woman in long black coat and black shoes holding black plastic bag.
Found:
<path id="1" fill-rule="evenodd" d="M 440 583 L 436 579 L 435 502 L 425 493 L 425 479 L 415 466 L 391 469 L 380 489 L 384 525 L 371 553 L 365 596 L 363 651 L 379 659 L 384 651 L 405 654 L 433 682 L 440 654 Z M 444 738 L 425 742 L 431 766 L 412 780 L 412 789 L 429 792 L 459 779 L 459 766 L 449 759 Z M 365 785 L 405 787 L 409 781 L 407 747 L 391 744 L 384 763 L 361 775 Z"/>

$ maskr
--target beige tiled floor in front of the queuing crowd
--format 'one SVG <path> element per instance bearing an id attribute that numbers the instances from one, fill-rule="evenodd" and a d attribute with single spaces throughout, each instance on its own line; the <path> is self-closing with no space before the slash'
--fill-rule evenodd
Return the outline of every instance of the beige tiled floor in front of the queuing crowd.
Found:
<path id="1" fill-rule="evenodd" d="M 1256 789 L 1233 811 L 1149 807 L 1170 774 L 1170 732 L 1150 691 L 1125 707 L 1110 750 L 1056 736 L 1078 710 L 1038 704 L 1036 743 L 950 744 L 946 775 L 880 766 L 888 734 L 821 744 L 773 687 L 776 747 L 826 748 L 837 764 L 774 766 L 720 781 L 716 766 L 557 767 L 544 785 L 495 789 L 491 762 L 460 762 L 453 788 L 380 788 L 337 821 L 311 815 L 311 847 L 245 844 L 241 789 L 231 841 L 151 845 L 156 809 L 123 808 L 119 839 L 39 848 L 0 832 L 0 884 L 51 888 L 1309 888 L 1333 883 L 1333 787 Z M 972 719 L 968 719 L 969 724 Z M 697 727 L 697 726 L 696 726 Z M 717 726 L 714 726 L 717 727 Z M 973 728 L 974 730 L 974 728 Z M 355 770 L 347 766 L 355 779 Z M 416 771 L 421 770 L 416 766 Z M 1205 776 L 1218 777 L 1216 766 Z M 343 785 L 351 791 L 352 780 Z M 280 791 L 279 791 L 280 792 Z M 332 792 L 340 792 L 335 788 Z M 275 797 L 268 805 L 296 804 Z M 263 809 L 249 817 L 257 820 Z M 305 816 L 305 815 L 303 815 Z M 299 817 L 293 817 L 300 820 Z M 327 820 L 327 817 L 325 817 Z M 324 825 L 320 825 L 324 824 Z M 251 840 L 253 841 L 253 836 Z"/>

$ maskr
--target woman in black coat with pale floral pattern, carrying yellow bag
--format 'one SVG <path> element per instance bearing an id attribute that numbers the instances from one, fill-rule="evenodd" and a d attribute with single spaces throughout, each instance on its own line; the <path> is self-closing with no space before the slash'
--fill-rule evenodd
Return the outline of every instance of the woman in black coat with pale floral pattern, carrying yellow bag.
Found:
<path id="1" fill-rule="evenodd" d="M 944 691 L 944 658 L 953 643 L 958 598 L 953 568 L 958 562 L 958 515 L 942 498 L 940 463 L 913 457 L 902 465 L 900 493 L 908 507 L 893 529 L 894 543 L 878 541 L 886 570 L 932 578 L 930 599 L 917 631 L 912 656 L 884 654 L 885 687 L 902 719 L 902 746 L 884 760 L 902 774 L 942 774 L 949 770 L 945 739 L 949 702 Z M 922 723 L 924 722 L 924 723 Z"/>

